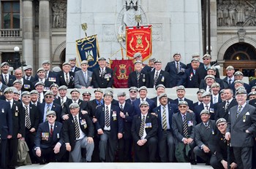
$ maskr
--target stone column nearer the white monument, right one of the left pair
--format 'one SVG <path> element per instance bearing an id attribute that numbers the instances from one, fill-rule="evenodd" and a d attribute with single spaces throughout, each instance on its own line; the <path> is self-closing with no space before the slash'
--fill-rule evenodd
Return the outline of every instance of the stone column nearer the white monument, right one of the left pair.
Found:
<path id="1" fill-rule="evenodd" d="M 43 60 L 50 60 L 50 12 L 49 0 L 39 0 L 39 67 Z"/>

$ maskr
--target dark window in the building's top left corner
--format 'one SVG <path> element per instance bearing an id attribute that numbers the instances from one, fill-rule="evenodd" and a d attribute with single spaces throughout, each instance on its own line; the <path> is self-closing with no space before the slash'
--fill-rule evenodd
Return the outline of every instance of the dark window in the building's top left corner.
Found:
<path id="1" fill-rule="evenodd" d="M 20 28 L 20 1 L 1 1 L 1 28 Z"/>

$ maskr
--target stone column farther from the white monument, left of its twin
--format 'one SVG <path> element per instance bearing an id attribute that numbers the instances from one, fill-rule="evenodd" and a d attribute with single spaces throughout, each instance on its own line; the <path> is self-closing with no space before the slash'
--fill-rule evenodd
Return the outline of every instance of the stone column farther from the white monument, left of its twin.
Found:
<path id="1" fill-rule="evenodd" d="M 23 0 L 23 40 L 22 50 L 23 58 L 20 61 L 26 60 L 26 65 L 34 66 L 33 55 L 33 0 Z"/>

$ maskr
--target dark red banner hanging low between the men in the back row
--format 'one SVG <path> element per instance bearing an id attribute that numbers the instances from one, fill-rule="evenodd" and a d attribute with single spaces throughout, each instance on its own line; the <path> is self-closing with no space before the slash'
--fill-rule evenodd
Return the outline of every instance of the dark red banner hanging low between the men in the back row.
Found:
<path id="1" fill-rule="evenodd" d="M 134 71 L 132 60 L 110 60 L 110 66 L 113 70 L 115 88 L 128 88 L 129 74 Z"/>

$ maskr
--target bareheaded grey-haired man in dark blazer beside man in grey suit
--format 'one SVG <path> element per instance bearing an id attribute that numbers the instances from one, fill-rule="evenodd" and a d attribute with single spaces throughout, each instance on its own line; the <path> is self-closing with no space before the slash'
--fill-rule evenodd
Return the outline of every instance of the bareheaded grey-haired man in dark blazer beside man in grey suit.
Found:
<path id="1" fill-rule="evenodd" d="M 215 114 L 216 121 L 219 118 L 224 118 L 226 119 L 226 121 L 228 121 L 228 117 L 229 117 L 228 112 L 230 111 L 230 108 L 238 104 L 236 99 L 233 98 L 233 90 L 225 89 L 224 95 L 225 95 L 225 101 L 217 105 L 217 111 Z"/>

